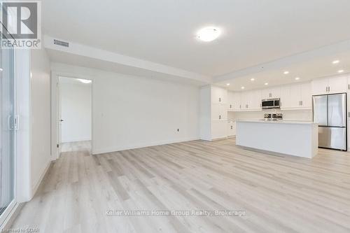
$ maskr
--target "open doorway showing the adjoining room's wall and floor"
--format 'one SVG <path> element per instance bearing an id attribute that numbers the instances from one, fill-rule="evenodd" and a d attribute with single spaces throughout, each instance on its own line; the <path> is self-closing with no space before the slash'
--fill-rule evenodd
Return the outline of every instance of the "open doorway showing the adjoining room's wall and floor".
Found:
<path id="1" fill-rule="evenodd" d="M 92 80 L 59 76 L 57 97 L 59 153 L 91 153 Z"/>

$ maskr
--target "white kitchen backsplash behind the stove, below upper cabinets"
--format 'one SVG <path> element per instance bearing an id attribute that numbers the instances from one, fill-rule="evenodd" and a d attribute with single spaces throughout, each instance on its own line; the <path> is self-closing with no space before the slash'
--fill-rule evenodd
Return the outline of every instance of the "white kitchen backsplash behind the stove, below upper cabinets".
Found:
<path id="1" fill-rule="evenodd" d="M 228 119 L 235 120 L 260 120 L 264 118 L 264 113 L 283 113 L 283 120 L 312 120 L 311 109 L 303 110 L 279 110 L 267 109 L 263 111 L 228 112 Z"/>

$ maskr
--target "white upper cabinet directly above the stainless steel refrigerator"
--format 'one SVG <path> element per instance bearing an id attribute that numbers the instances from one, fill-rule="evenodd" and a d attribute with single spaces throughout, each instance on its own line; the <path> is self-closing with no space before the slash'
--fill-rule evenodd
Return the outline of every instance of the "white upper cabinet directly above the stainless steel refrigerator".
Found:
<path id="1" fill-rule="evenodd" d="M 346 92 L 348 80 L 346 76 L 319 78 L 311 82 L 312 94 L 335 94 Z"/>

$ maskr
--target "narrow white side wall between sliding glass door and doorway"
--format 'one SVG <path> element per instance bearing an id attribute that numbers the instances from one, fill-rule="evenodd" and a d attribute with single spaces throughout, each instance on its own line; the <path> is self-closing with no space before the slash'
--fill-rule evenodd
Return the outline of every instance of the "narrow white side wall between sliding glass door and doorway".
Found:
<path id="1" fill-rule="evenodd" d="M 31 50 L 31 189 L 32 195 L 51 160 L 50 60 L 44 49 Z"/>

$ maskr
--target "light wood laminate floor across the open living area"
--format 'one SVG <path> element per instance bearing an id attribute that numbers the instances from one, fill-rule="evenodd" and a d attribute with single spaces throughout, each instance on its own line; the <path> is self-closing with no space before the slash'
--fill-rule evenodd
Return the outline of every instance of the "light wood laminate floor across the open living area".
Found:
<path id="1" fill-rule="evenodd" d="M 245 216 L 109 216 L 113 210 Z M 108 212 L 110 213 L 110 212 Z M 350 155 L 266 155 L 235 139 L 62 153 L 13 227 L 40 232 L 350 232 Z"/>

